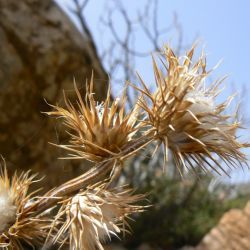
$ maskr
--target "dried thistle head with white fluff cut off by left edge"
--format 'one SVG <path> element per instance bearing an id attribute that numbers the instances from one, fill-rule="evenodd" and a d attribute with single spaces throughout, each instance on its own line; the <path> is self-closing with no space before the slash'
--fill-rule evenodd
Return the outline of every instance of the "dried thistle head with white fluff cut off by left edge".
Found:
<path id="1" fill-rule="evenodd" d="M 24 215 L 26 205 L 32 202 L 28 194 L 34 175 L 16 174 L 10 180 L 6 167 L 0 176 L 0 247 L 23 249 L 23 243 L 32 247 L 42 244 L 51 223 L 43 216 L 33 216 L 32 211 Z"/>

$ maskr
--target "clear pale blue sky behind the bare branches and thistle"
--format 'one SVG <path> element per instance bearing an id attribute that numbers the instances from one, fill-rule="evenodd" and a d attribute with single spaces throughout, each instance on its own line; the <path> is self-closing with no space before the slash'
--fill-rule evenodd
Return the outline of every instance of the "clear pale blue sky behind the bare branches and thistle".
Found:
<path id="1" fill-rule="evenodd" d="M 153 0 L 152 0 L 153 1 Z M 57 0 L 67 11 L 71 0 Z M 136 16 L 142 10 L 145 0 L 121 0 L 130 17 Z M 100 30 L 99 18 L 105 14 L 111 0 L 90 0 L 85 9 L 85 17 L 93 33 L 97 48 L 101 51 L 102 44 L 109 41 L 109 35 Z M 250 1 L 247 0 L 159 0 L 158 22 L 160 27 L 166 27 L 172 22 L 173 13 L 178 16 L 183 29 L 183 44 L 190 44 L 199 38 L 201 47 L 205 47 L 208 55 L 208 65 L 214 66 L 223 60 L 213 74 L 214 77 L 229 75 L 226 84 L 226 94 L 241 92 L 244 87 L 244 116 L 249 119 L 249 72 L 250 72 Z M 69 14 L 69 12 L 68 12 Z M 70 17 L 76 22 L 72 14 Z M 115 27 L 119 34 L 124 32 L 124 24 L 119 16 L 114 16 Z M 143 34 L 136 36 L 136 46 L 141 51 L 150 50 L 150 44 Z M 106 35 L 106 37 L 105 37 Z M 170 32 L 162 37 L 161 43 L 175 44 L 176 33 Z M 135 70 L 141 72 L 149 82 L 153 79 L 150 56 L 137 60 Z M 119 72 L 117 72 L 119 74 Z M 249 126 L 249 125 L 248 125 Z M 248 130 L 249 131 L 249 130 Z M 250 139 L 249 132 L 244 136 Z M 224 178 L 224 177 L 223 177 Z M 244 173 L 234 171 L 228 181 L 248 181 L 250 171 Z"/>

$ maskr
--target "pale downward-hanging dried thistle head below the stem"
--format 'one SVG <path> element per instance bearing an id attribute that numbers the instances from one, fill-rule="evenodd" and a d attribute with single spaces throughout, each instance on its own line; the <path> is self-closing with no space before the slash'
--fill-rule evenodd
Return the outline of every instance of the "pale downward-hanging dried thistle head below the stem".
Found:
<path id="1" fill-rule="evenodd" d="M 66 221 L 55 242 L 63 238 L 64 243 L 69 238 L 70 249 L 103 250 L 102 243 L 111 236 L 128 231 L 126 219 L 143 211 L 143 206 L 134 204 L 144 197 L 133 195 L 130 189 L 105 190 L 105 185 L 88 187 L 64 201 L 55 221 L 65 215 Z"/>

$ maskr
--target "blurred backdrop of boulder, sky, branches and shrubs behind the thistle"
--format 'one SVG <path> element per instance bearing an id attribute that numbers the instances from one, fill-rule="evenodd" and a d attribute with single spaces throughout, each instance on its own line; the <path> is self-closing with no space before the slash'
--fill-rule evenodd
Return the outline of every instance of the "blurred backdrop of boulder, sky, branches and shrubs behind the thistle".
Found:
<path id="1" fill-rule="evenodd" d="M 209 80 L 228 75 L 218 102 L 237 93 L 246 127 L 239 137 L 249 141 L 249 12 L 244 0 L 0 0 L 0 153 L 8 168 L 44 175 L 44 191 L 79 175 L 88 164 L 59 160 L 64 152 L 48 143 L 67 139 L 43 113 L 48 103 L 63 105 L 63 90 L 73 99 L 73 79 L 84 95 L 92 71 L 99 101 L 110 79 L 115 96 L 127 80 L 138 84 L 137 71 L 153 89 L 151 56 L 164 44 L 182 55 L 198 42 L 209 68 L 222 60 Z M 129 108 L 136 93 L 127 95 Z M 163 174 L 163 155 L 151 158 L 151 150 L 128 162 L 120 181 L 149 192 L 154 206 L 107 249 L 250 249 L 250 171 L 181 180 L 171 161 Z"/>

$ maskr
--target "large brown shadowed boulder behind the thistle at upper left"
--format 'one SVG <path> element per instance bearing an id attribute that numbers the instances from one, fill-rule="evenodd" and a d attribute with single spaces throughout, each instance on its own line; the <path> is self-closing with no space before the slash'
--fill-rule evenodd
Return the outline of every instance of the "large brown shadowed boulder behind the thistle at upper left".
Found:
<path id="1" fill-rule="evenodd" d="M 58 138 L 58 122 L 41 113 L 50 110 L 45 100 L 62 102 L 63 89 L 72 96 L 73 78 L 84 86 L 92 70 L 101 99 L 107 77 L 93 41 L 51 0 L 0 0 L 0 41 L 0 154 L 12 170 L 46 175 L 47 189 L 74 173 L 48 144 L 64 136 Z"/>

